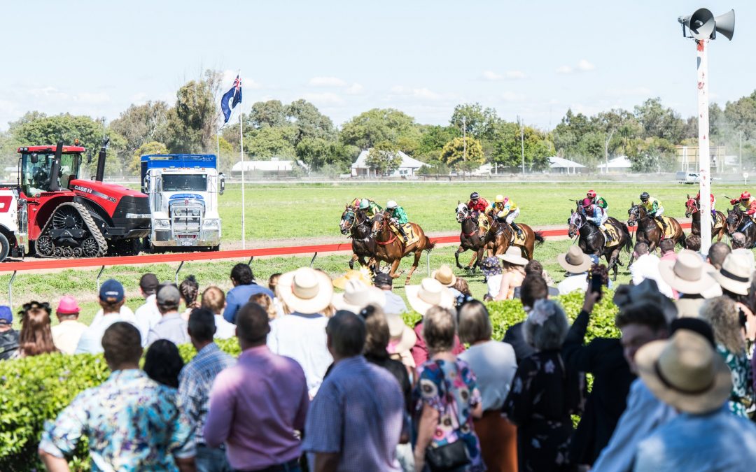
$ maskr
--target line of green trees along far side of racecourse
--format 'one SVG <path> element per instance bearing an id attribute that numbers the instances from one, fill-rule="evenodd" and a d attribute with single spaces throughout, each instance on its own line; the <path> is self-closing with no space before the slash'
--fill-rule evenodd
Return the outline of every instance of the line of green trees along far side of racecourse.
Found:
<path id="1" fill-rule="evenodd" d="M 96 153 L 104 135 L 110 137 L 109 175 L 138 174 L 139 156 L 150 153 L 218 153 L 222 171 L 239 160 L 240 134 L 236 119 L 220 130 L 220 72 L 206 71 L 182 85 L 174 103 L 132 104 L 110 123 L 67 113 L 47 116 L 30 111 L 0 133 L 0 159 L 15 165 L 16 147 L 78 139 Z M 249 95 L 248 95 L 249 96 Z M 612 109 L 586 116 L 568 110 L 553 129 L 521 126 L 479 103 L 454 107 L 447 125 L 423 125 L 395 109 L 373 109 L 349 119 L 339 128 L 307 100 L 253 103 L 241 116 L 246 159 L 296 159 L 308 171 L 335 175 L 349 171 L 361 150 L 371 150 L 368 165 L 378 173 L 401 162 L 398 151 L 426 162 L 426 174 L 470 171 L 485 162 L 515 170 L 542 171 L 550 156 L 596 168 L 605 156 L 628 156 L 634 171 L 671 171 L 675 146 L 696 146 L 695 116 L 683 119 L 662 101 L 649 98 L 633 110 Z M 756 156 L 756 91 L 724 107 L 710 107 L 711 143 L 742 149 L 743 161 Z M 299 171 L 302 171 L 301 169 Z"/>

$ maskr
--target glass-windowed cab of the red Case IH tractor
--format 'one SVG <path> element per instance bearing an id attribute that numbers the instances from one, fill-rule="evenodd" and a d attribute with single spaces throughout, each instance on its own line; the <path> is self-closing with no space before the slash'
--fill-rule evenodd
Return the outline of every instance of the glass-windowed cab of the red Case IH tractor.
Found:
<path id="1" fill-rule="evenodd" d="M 27 197 L 37 197 L 45 192 L 68 190 L 68 184 L 79 175 L 83 147 L 64 146 L 60 163 L 55 162 L 55 147 L 20 147 L 19 182 Z M 55 174 L 55 175 L 52 175 Z"/>

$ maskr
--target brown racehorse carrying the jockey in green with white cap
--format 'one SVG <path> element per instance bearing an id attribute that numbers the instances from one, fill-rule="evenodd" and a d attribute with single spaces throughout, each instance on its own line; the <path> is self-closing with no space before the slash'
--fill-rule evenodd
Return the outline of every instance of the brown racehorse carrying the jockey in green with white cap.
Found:
<path id="1" fill-rule="evenodd" d="M 435 244 L 430 242 L 428 236 L 423 233 L 423 228 L 417 224 L 411 223 L 414 233 L 419 236 L 420 239 L 410 245 L 404 245 L 404 241 L 396 236 L 389 227 L 390 221 L 391 218 L 386 215 L 384 211 L 381 211 L 373 217 L 372 236 L 376 241 L 375 257 L 379 261 L 385 261 L 391 264 L 389 275 L 392 279 L 396 279 L 401 275 L 401 273 L 397 272 L 401 258 L 413 254 L 415 258 L 414 261 L 412 261 L 410 273 L 407 273 L 407 279 L 404 281 L 405 284 L 408 284 L 410 283 L 412 274 L 415 269 L 417 269 L 417 265 L 420 264 L 420 255 L 423 254 L 423 251 L 430 251 L 435 247 Z"/>

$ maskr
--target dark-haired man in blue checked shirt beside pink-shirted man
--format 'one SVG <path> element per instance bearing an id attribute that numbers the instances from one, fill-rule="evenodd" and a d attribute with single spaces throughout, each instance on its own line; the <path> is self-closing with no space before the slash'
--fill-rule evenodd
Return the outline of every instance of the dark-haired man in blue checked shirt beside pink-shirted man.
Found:
<path id="1" fill-rule="evenodd" d="M 215 315 L 206 308 L 193 310 L 189 315 L 189 337 L 197 356 L 181 369 L 178 375 L 178 395 L 181 409 L 189 417 L 197 439 L 197 471 L 230 472 L 225 448 L 211 448 L 203 441 L 203 427 L 207 418 L 209 393 L 212 382 L 226 367 L 236 360 L 212 342 L 215 335 Z"/>

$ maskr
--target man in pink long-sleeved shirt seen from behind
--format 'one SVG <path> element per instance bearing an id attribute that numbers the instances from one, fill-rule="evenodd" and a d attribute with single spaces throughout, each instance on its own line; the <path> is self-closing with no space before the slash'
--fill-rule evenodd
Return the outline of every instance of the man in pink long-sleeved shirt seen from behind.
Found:
<path id="1" fill-rule="evenodd" d="M 225 443 L 234 470 L 298 471 L 295 431 L 305 427 L 310 403 L 305 372 L 268 349 L 268 313 L 258 304 L 241 307 L 236 324 L 242 353 L 212 384 L 205 443 Z"/>

